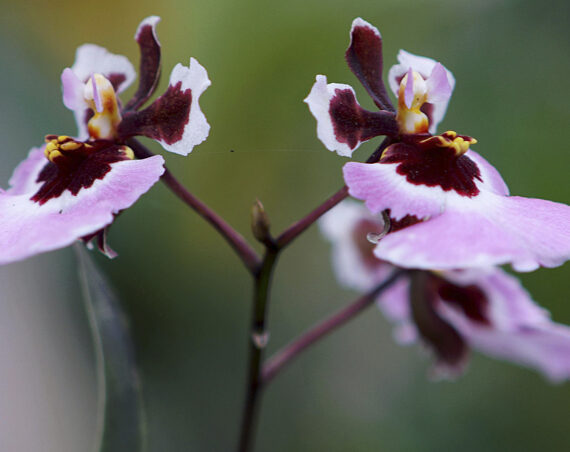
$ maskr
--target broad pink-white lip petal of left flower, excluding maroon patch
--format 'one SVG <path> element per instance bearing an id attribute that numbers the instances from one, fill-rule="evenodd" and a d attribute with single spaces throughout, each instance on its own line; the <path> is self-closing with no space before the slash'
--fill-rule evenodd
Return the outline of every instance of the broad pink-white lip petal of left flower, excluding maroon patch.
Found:
<path id="1" fill-rule="evenodd" d="M 116 162 L 103 179 L 76 196 L 65 192 L 40 205 L 30 200 L 34 191 L 22 192 L 23 187 L 33 185 L 22 176 L 27 169 L 35 168 L 37 154 L 33 151 L 31 162 L 18 167 L 13 191 L 0 194 L 0 264 L 65 247 L 107 226 L 164 172 L 160 156 Z M 34 172 L 28 174 L 33 176 Z"/>

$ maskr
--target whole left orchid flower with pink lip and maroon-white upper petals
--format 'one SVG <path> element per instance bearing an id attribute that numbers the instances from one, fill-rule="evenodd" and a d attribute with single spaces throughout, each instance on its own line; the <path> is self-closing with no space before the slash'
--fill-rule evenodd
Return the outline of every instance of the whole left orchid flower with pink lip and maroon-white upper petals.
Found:
<path id="1" fill-rule="evenodd" d="M 135 79 L 126 57 L 86 44 L 63 71 L 63 102 L 77 120 L 78 137 L 48 135 L 14 171 L 10 188 L 0 193 L 0 264 L 98 238 L 112 257 L 106 228 L 164 172 L 164 159 L 136 159 L 128 140 L 136 135 L 158 141 L 166 150 L 187 155 L 208 135 L 198 99 L 210 85 L 206 70 L 193 58 L 178 64 L 166 92 L 141 109 L 160 75 L 158 17 L 144 19 L 135 39 L 141 53 L 140 82 L 125 104 L 117 94 Z"/>

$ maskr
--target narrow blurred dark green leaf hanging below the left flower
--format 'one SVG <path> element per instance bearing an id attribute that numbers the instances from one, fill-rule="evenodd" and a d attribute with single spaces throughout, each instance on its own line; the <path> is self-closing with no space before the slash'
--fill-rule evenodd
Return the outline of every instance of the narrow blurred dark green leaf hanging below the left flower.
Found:
<path id="1" fill-rule="evenodd" d="M 117 296 L 89 252 L 75 247 L 96 354 L 100 452 L 144 450 L 145 416 L 133 344 Z"/>

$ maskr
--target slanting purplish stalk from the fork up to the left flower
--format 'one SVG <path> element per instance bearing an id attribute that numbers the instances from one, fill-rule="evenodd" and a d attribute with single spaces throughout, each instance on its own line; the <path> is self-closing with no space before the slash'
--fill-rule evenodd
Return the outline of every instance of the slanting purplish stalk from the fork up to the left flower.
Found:
<path id="1" fill-rule="evenodd" d="M 133 149 L 137 158 L 147 158 L 154 154 L 143 144 L 134 138 L 128 140 L 127 144 Z M 224 221 L 216 212 L 200 201 L 196 196 L 188 191 L 174 175 L 164 167 L 162 182 L 181 199 L 186 205 L 191 207 L 196 213 L 210 223 L 224 239 L 230 244 L 237 255 L 241 258 L 245 266 L 251 273 L 257 271 L 260 259 L 255 250 L 247 243 L 243 236 Z"/>

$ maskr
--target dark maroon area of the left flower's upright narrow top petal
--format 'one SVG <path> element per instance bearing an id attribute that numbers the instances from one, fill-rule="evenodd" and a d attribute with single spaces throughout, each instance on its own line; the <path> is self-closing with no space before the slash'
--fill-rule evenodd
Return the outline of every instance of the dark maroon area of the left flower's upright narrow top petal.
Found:
<path id="1" fill-rule="evenodd" d="M 136 110 L 141 107 L 154 93 L 160 79 L 160 43 L 156 39 L 154 26 L 142 26 L 137 33 L 141 60 L 139 67 L 140 81 L 137 92 L 127 103 L 126 110 Z"/>

